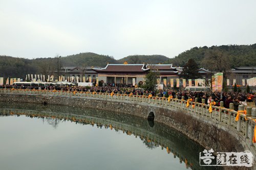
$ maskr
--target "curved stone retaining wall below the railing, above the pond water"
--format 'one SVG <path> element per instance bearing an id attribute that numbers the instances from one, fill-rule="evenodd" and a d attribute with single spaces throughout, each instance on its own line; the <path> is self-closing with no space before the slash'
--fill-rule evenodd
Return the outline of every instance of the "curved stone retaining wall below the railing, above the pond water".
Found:
<path id="1" fill-rule="evenodd" d="M 70 107 L 96 108 L 122 112 L 147 118 L 150 112 L 155 115 L 155 121 L 172 127 L 203 145 L 206 149 L 218 152 L 236 152 L 246 150 L 239 142 L 239 136 L 229 129 L 218 127 L 200 117 L 195 117 L 178 108 L 162 105 L 139 103 L 136 101 L 117 101 L 115 99 L 95 99 L 92 97 L 58 96 L 46 94 L 0 94 L 2 102 L 44 103 L 52 105 L 67 105 Z M 232 134 L 232 135 L 231 135 Z"/>

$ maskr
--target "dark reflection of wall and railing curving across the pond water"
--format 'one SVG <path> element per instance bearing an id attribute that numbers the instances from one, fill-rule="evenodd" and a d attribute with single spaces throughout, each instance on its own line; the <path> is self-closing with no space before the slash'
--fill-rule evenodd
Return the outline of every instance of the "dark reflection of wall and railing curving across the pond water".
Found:
<path id="1" fill-rule="evenodd" d="M 65 112 L 49 112 L 49 111 L 39 111 L 39 110 L 27 110 L 27 109 L 13 109 L 13 108 L 0 108 L 0 116 L 11 116 L 11 115 L 26 115 L 31 118 L 42 118 L 46 120 L 53 120 L 54 123 L 59 123 L 59 121 L 71 121 L 76 124 L 83 124 L 83 125 L 91 125 L 97 126 L 98 128 L 104 127 L 105 129 L 115 130 L 115 131 L 122 131 L 127 135 L 134 135 L 136 138 L 137 136 L 140 137 L 142 142 L 146 145 L 147 148 L 155 148 L 161 146 L 162 149 L 166 149 L 167 153 L 173 153 L 174 157 L 178 157 L 180 159 L 180 163 L 183 161 L 186 164 L 186 167 L 190 167 L 192 169 L 200 169 L 201 167 L 198 166 L 198 159 L 187 157 L 187 150 L 184 148 L 181 150 L 177 143 L 163 137 L 157 133 L 158 130 L 162 129 L 155 129 L 154 132 L 148 131 L 149 125 L 130 125 L 126 123 L 117 122 L 111 119 L 105 119 L 100 117 L 93 117 L 90 115 L 84 114 L 74 114 L 74 113 L 65 113 Z M 48 123 L 51 121 L 48 121 Z M 145 120 L 143 119 L 143 122 Z M 56 125 L 51 124 L 54 128 Z M 169 128 L 168 128 L 169 129 Z M 174 133 L 172 131 L 172 133 Z M 173 136 L 177 136 L 172 134 Z M 183 152 L 183 153 L 182 153 Z M 186 155 L 186 156 L 185 156 Z M 196 154 L 198 155 L 198 153 Z"/>

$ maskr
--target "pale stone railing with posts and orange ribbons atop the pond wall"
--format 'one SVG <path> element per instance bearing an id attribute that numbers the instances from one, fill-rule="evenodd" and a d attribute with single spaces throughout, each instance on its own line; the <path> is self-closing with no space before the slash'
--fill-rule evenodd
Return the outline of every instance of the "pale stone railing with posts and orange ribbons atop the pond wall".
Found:
<path id="1" fill-rule="evenodd" d="M 249 139 L 249 143 L 247 143 L 248 148 L 253 150 L 253 155 L 256 155 L 256 143 L 252 143 L 253 137 L 253 129 L 256 125 L 255 118 L 246 114 L 239 114 L 238 122 L 234 122 L 238 111 L 234 111 L 231 109 L 227 109 L 219 106 L 211 106 L 212 112 L 207 113 L 209 109 L 209 105 L 204 103 L 192 102 L 184 99 L 174 99 L 174 98 L 165 98 L 158 96 L 147 96 L 147 95 L 134 95 L 134 94 L 120 94 L 120 93 L 107 93 L 107 92 L 89 92 L 89 91 L 62 91 L 62 90 L 37 90 L 37 89 L 0 89 L 0 93 L 8 93 L 8 94 L 41 94 L 41 95 L 54 95 L 54 96 L 75 96 L 78 98 L 101 98 L 106 100 L 120 100 L 120 101 L 136 101 L 141 103 L 153 104 L 153 105 L 161 105 L 169 107 L 177 107 L 182 110 L 186 110 L 190 113 L 202 115 L 206 118 L 210 118 L 213 121 L 218 119 L 219 124 L 227 124 L 229 127 L 233 129 L 233 131 L 242 132 L 244 137 L 244 141 Z M 186 104 L 189 104 L 189 107 L 186 107 Z M 172 104 L 172 105 L 171 105 Z M 191 105 L 194 105 L 191 107 Z M 198 108 L 198 110 L 196 110 Z M 200 108 L 200 113 L 199 113 Z M 227 120 L 225 120 L 225 118 Z M 243 128 L 242 128 L 243 125 Z M 249 126 L 250 125 L 250 126 Z M 245 127 L 245 128 L 244 128 Z M 248 129 L 250 127 L 250 130 Z M 249 137 L 249 138 L 248 138 Z M 250 147 L 252 146 L 252 148 Z"/>

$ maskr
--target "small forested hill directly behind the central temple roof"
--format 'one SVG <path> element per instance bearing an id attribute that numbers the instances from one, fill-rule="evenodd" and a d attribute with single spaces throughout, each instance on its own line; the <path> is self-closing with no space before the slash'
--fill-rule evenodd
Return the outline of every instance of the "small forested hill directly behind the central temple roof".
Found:
<path id="1" fill-rule="evenodd" d="M 167 61 L 169 58 L 162 56 L 162 55 L 150 55 L 150 56 L 146 56 L 146 55 L 133 55 L 133 56 L 127 56 L 124 57 L 122 59 L 119 59 L 118 61 L 120 63 L 124 63 L 125 61 L 128 64 L 158 64 L 158 63 L 163 63 L 165 61 Z"/>

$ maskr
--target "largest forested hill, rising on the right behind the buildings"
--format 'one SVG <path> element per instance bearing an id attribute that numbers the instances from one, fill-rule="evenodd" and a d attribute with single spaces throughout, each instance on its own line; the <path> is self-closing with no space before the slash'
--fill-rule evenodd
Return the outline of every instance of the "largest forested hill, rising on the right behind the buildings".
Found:
<path id="1" fill-rule="evenodd" d="M 211 64 L 223 64 L 227 68 L 256 65 L 256 44 L 221 45 L 194 47 L 165 63 L 183 66 L 189 59 L 194 59 L 200 67 L 211 68 Z M 223 61 L 219 63 L 219 61 Z"/>

